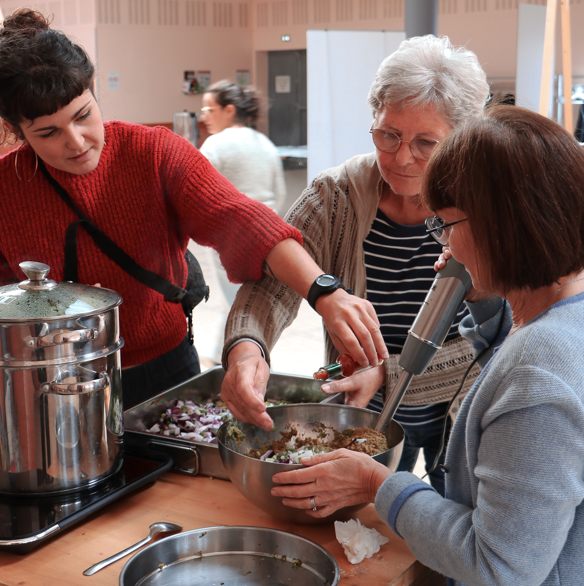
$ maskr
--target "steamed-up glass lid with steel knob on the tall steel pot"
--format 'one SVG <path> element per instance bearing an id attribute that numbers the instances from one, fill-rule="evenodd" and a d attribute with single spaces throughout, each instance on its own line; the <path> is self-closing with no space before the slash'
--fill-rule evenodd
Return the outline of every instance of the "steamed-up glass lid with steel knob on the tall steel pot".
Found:
<path id="1" fill-rule="evenodd" d="M 121 296 L 111 289 L 47 279 L 47 264 L 26 261 L 19 267 L 28 279 L 0 287 L 0 320 L 90 315 L 122 302 Z"/>

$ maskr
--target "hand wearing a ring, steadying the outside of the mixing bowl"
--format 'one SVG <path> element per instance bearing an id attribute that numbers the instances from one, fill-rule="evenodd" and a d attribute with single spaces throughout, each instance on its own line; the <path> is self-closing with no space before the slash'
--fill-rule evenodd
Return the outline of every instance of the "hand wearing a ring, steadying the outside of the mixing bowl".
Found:
<path id="1" fill-rule="evenodd" d="M 371 456 L 344 448 L 300 462 L 306 468 L 272 476 L 278 485 L 272 488 L 272 495 L 284 497 L 282 503 L 293 509 L 306 509 L 311 517 L 326 517 L 342 507 L 375 502 L 377 490 L 392 473 Z M 312 510 L 311 497 L 316 511 Z"/>

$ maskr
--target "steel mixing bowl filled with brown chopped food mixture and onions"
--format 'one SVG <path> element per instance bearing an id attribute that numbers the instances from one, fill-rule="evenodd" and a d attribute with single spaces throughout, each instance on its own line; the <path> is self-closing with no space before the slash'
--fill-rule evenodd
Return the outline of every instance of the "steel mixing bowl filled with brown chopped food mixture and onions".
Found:
<path id="1" fill-rule="evenodd" d="M 274 428 L 270 431 L 232 420 L 221 426 L 217 434 L 221 461 L 231 482 L 245 498 L 270 515 L 292 523 L 347 520 L 365 506 L 344 507 L 328 517 L 315 519 L 304 510 L 286 507 L 282 498 L 272 496 L 272 476 L 276 472 L 302 468 L 296 459 L 299 462 L 303 455 L 308 455 L 307 449 L 330 451 L 336 446 L 358 451 L 370 449 L 366 453 L 373 453 L 379 449 L 379 446 L 372 448 L 379 440 L 372 429 L 377 413 L 347 405 L 303 403 L 271 407 L 269 414 L 274 420 Z M 404 445 L 404 430 L 390 421 L 380 435 L 384 436 L 387 447 L 371 457 L 395 471 Z M 367 441 L 358 441 L 363 439 Z M 351 440 L 355 441 L 348 445 Z M 300 454 L 303 447 L 305 453 Z M 274 453 L 266 455 L 270 450 Z M 265 456 L 263 460 L 262 456 Z"/>

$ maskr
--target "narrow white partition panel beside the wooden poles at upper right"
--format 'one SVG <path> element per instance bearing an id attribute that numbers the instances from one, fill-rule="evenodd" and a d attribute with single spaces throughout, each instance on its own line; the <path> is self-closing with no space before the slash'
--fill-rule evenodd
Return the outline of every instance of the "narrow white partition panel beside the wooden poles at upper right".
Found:
<path id="1" fill-rule="evenodd" d="M 517 5 L 517 73 L 515 104 L 537 112 L 544 62 L 545 6 Z M 554 60 L 552 60 L 552 63 Z M 552 68 L 552 80 L 554 71 Z M 554 84 L 552 83 L 552 88 Z M 550 101 L 553 104 L 553 100 Z"/>

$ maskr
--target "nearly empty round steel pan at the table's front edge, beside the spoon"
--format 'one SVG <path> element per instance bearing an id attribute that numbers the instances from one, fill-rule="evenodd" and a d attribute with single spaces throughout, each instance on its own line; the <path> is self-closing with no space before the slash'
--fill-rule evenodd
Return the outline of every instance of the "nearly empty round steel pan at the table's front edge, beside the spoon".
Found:
<path id="1" fill-rule="evenodd" d="M 265 527 L 204 527 L 138 551 L 119 586 L 336 586 L 339 575 L 334 557 L 306 537 Z"/>

